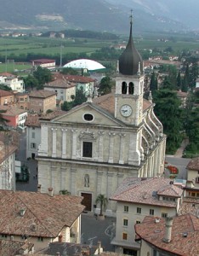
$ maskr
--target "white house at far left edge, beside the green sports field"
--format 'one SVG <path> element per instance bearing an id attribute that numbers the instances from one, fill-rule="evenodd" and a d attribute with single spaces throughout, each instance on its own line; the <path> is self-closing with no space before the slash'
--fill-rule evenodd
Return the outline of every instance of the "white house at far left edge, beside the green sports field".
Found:
<path id="1" fill-rule="evenodd" d="M 24 81 L 11 73 L 0 73 L 0 84 L 5 84 L 18 92 L 25 91 Z"/>

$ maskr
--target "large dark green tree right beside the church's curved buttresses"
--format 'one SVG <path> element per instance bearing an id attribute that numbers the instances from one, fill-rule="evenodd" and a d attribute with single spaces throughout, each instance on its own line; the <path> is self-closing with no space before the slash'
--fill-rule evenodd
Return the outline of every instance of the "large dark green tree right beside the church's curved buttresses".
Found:
<path id="1" fill-rule="evenodd" d="M 167 89 L 156 90 L 153 100 L 156 103 L 154 111 L 167 135 L 167 154 L 173 154 L 182 141 L 181 102 L 176 92 Z"/>

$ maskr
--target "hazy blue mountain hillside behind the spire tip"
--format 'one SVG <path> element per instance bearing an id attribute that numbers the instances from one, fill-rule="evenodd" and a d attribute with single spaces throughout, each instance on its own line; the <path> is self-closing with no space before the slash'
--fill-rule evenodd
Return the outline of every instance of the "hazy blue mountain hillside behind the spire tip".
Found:
<path id="1" fill-rule="evenodd" d="M 1 3 L 0 29 L 75 28 L 127 33 L 131 8 L 134 8 L 136 32 L 185 29 L 179 20 L 153 15 L 139 2 L 150 3 L 149 0 L 123 0 L 121 6 L 121 0 L 7 0 Z"/>

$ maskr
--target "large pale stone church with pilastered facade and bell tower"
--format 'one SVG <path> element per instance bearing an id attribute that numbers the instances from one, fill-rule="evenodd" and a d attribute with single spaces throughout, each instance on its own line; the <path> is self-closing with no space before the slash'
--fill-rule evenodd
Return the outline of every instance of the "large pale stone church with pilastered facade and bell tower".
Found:
<path id="1" fill-rule="evenodd" d="M 87 211 L 94 211 L 99 194 L 108 199 L 124 178 L 163 172 L 166 136 L 151 97 L 143 97 L 145 73 L 132 26 L 131 18 L 128 44 L 117 61 L 115 92 L 88 96 L 54 119 L 41 119 L 41 191 L 82 195 Z M 106 208 L 115 212 L 116 203 L 108 201 Z"/>

